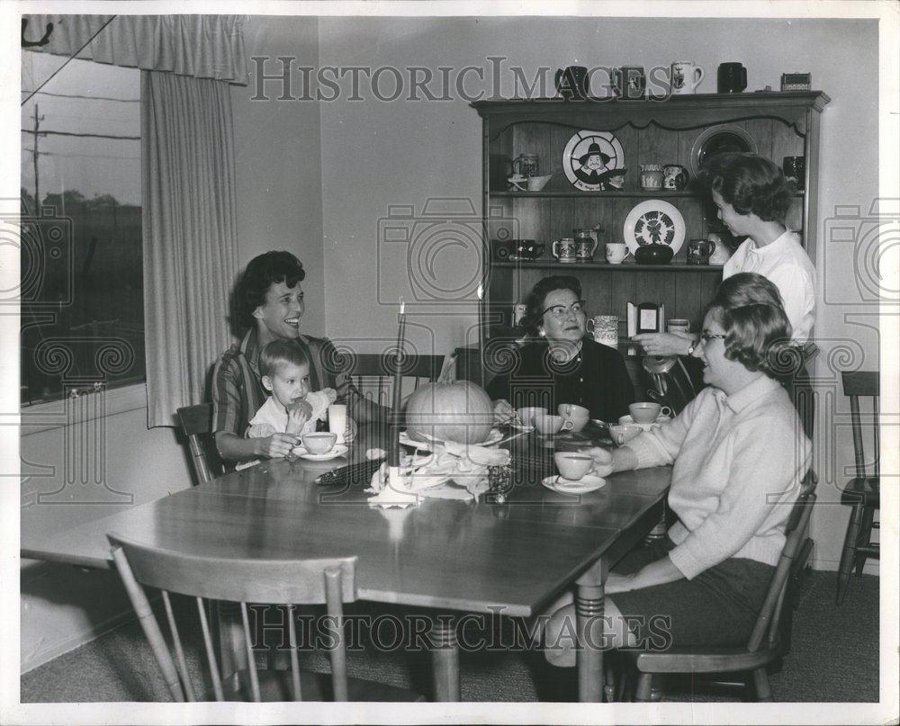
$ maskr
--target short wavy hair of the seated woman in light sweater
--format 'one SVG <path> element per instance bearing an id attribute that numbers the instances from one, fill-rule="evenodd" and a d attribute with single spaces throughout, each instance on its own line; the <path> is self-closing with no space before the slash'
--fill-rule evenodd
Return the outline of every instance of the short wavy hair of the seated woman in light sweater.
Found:
<path id="1" fill-rule="evenodd" d="M 719 285 L 706 312 L 725 328 L 728 360 L 778 378 L 791 327 L 774 283 L 757 273 L 732 275 Z"/>

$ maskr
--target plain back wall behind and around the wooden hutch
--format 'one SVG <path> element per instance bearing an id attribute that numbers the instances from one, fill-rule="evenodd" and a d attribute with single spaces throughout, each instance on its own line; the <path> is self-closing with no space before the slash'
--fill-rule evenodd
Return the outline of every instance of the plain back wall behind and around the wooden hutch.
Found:
<path id="1" fill-rule="evenodd" d="M 715 69 L 724 60 L 748 67 L 749 89 L 779 88 L 784 71 L 809 71 L 816 89 L 832 98 L 823 116 L 820 221 L 835 205 L 860 205 L 878 195 L 878 25 L 836 20 L 688 20 L 584 18 L 323 18 L 322 66 L 453 67 L 486 69 L 487 82 L 473 75 L 466 89 L 491 94 L 488 57 L 504 57 L 503 67 L 521 66 L 527 78 L 536 68 L 568 64 L 665 66 L 686 58 L 707 69 L 700 93 L 716 90 Z M 436 71 L 437 76 L 437 71 Z M 455 76 L 453 76 L 455 77 Z M 509 70 L 499 94 L 513 94 Z M 346 89 L 349 85 L 344 86 Z M 326 309 L 329 336 L 380 345 L 396 335 L 397 291 L 409 287 L 404 260 L 386 250 L 378 223 L 389 205 L 414 205 L 420 216 L 428 198 L 461 197 L 481 205 L 481 124 L 453 89 L 454 100 L 385 103 L 364 84 L 365 103 L 321 103 L 322 199 Z M 383 95 L 392 80 L 383 77 Z M 860 139 L 867 139 L 860 143 Z M 403 222 L 408 228 L 412 223 Z M 859 220 L 851 220 L 851 226 Z M 401 225 L 402 226 L 402 225 Z M 824 232 L 826 230 L 823 230 Z M 427 232 L 422 232 L 425 235 Z M 416 238 L 416 233 L 410 234 Z M 439 275 L 456 269 L 464 282 L 473 264 L 464 246 L 436 255 Z M 822 395 L 817 429 L 820 499 L 837 501 L 835 487 L 852 462 L 847 403 L 835 388 L 832 366 L 875 368 L 878 329 L 872 305 L 852 273 L 852 244 L 819 242 L 819 309 L 816 333 L 822 355 L 816 364 Z M 379 263 L 382 266 L 379 267 Z M 428 271 L 426 270 L 426 273 Z M 417 268 L 416 273 L 422 272 Z M 442 278 L 443 279 L 443 278 Z M 826 294 L 827 293 L 827 294 Z M 469 302 L 444 318 L 416 318 L 431 328 L 440 352 L 465 342 L 475 323 Z M 409 300 L 409 295 L 407 297 Z M 422 312 L 413 306 L 411 312 Z M 471 333 L 469 333 L 471 335 Z M 468 339 L 470 342 L 471 337 Z M 830 361 L 831 364 L 828 362 Z M 840 420 L 836 420 L 840 419 Z M 817 567 L 833 569 L 840 557 L 848 509 L 818 508 L 813 534 Z"/>

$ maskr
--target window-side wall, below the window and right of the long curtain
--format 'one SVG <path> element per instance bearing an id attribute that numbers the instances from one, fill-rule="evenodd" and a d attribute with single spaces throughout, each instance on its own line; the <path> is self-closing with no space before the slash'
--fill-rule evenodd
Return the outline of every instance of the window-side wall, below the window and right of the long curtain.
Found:
<path id="1" fill-rule="evenodd" d="M 291 55 L 310 65 L 318 63 L 315 18 L 250 17 L 244 22 L 244 39 L 247 58 Z M 252 257 L 270 249 L 298 255 L 307 270 L 303 287 L 311 301 L 303 327 L 321 335 L 325 314 L 319 111 L 309 103 L 251 101 L 251 95 L 250 85 L 232 86 L 238 264 L 243 268 Z M 147 429 L 144 387 L 113 391 L 110 397 L 122 405 L 112 407 L 121 413 L 104 421 L 105 483 L 130 495 L 134 505 L 190 486 L 185 446 L 176 439 L 174 429 Z M 61 420 L 66 420 L 65 415 Z M 67 486 L 60 497 L 93 497 L 101 504 L 38 503 L 40 493 L 62 486 L 66 442 L 79 441 L 85 434 L 96 437 L 101 430 L 96 424 L 58 426 L 40 433 L 23 426 L 23 530 L 36 527 L 52 533 L 132 506 L 109 489 L 94 485 Z M 87 450 L 69 452 L 70 461 L 78 467 L 96 465 Z M 23 560 L 21 587 L 23 671 L 92 640 L 120 622 L 123 614 L 130 616 L 130 604 L 112 572 Z"/>

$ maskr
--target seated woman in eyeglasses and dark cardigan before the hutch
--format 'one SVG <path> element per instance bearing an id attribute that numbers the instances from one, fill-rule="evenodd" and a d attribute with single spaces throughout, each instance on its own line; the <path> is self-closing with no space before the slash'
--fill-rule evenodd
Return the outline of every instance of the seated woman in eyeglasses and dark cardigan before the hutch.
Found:
<path id="1" fill-rule="evenodd" d="M 488 386 L 498 421 L 527 406 L 556 413 L 561 403 L 589 408 L 591 418 L 603 421 L 628 413 L 635 394 L 625 360 L 586 335 L 585 305 L 581 282 L 568 275 L 545 277 L 532 288 L 523 323 L 534 340 L 518 352 L 515 370 Z"/>

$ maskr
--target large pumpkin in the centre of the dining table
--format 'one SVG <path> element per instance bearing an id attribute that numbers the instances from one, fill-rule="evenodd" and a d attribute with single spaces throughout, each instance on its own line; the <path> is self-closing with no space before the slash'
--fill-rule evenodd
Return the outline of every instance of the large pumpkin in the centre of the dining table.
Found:
<path id="1" fill-rule="evenodd" d="M 493 418 L 491 397 L 474 383 L 429 383 L 407 401 L 406 433 L 422 442 L 481 444 L 491 434 Z"/>

